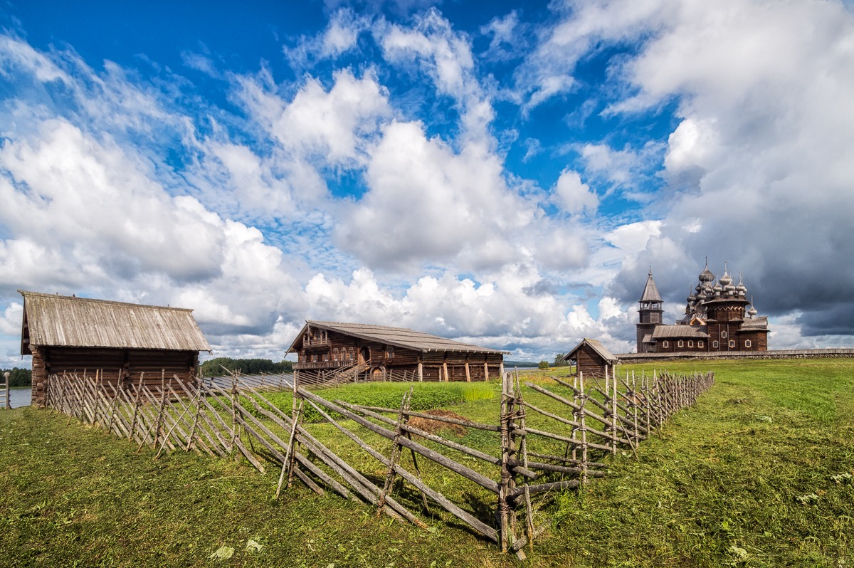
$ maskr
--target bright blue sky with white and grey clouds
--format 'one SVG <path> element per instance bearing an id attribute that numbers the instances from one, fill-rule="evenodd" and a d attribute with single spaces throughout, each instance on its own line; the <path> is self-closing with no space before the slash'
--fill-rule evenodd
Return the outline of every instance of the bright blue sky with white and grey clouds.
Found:
<path id="1" fill-rule="evenodd" d="M 770 348 L 854 347 L 854 6 L 0 4 L 0 366 L 34 290 L 553 359 L 680 319 L 708 258 Z"/>

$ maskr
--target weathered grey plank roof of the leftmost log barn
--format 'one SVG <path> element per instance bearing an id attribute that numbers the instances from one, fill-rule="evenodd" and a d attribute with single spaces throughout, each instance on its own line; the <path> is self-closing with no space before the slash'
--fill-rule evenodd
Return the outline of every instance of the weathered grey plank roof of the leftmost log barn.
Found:
<path id="1" fill-rule="evenodd" d="M 18 290 L 24 296 L 21 354 L 29 346 L 210 351 L 193 310 Z"/>

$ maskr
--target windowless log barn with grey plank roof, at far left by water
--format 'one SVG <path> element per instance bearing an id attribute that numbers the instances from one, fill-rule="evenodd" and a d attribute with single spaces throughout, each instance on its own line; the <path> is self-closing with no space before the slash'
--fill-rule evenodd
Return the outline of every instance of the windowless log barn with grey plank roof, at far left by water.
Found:
<path id="1" fill-rule="evenodd" d="M 32 355 L 32 404 L 44 400 L 44 381 L 63 372 L 111 384 L 160 386 L 161 375 L 196 380 L 199 351 L 210 345 L 192 310 L 143 306 L 18 290 L 24 296 L 20 354 Z"/>

